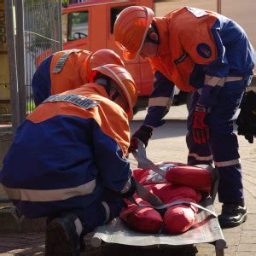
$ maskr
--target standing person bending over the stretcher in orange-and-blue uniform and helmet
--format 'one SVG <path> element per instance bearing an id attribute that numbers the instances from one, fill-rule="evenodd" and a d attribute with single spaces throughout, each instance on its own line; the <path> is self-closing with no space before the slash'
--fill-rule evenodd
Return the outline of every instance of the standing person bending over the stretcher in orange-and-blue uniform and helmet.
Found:
<path id="1" fill-rule="evenodd" d="M 172 103 L 174 84 L 193 92 L 188 118 L 189 165 L 218 167 L 218 216 L 222 227 L 247 218 L 241 163 L 233 121 L 241 97 L 253 75 L 254 50 L 241 26 L 223 15 L 183 7 L 165 17 L 151 9 L 131 6 L 114 24 L 116 44 L 125 60 L 148 57 L 154 71 L 154 90 L 143 125 L 131 137 L 147 146 L 155 127 Z"/>

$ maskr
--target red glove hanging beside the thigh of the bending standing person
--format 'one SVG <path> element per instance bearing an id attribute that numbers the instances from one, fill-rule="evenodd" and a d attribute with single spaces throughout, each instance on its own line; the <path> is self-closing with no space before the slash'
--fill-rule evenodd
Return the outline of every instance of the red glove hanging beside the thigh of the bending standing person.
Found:
<path id="1" fill-rule="evenodd" d="M 209 126 L 206 125 L 207 107 L 199 105 L 195 106 L 194 121 L 193 121 L 193 138 L 195 143 L 206 143 L 209 139 Z"/>

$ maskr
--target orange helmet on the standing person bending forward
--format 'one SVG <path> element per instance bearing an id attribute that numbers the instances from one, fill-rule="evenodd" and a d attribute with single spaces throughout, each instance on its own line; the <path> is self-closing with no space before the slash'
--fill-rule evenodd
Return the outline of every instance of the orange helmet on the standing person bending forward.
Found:
<path id="1" fill-rule="evenodd" d="M 145 6 L 123 9 L 113 26 L 115 44 L 123 50 L 126 61 L 134 61 L 143 48 L 154 12 Z"/>

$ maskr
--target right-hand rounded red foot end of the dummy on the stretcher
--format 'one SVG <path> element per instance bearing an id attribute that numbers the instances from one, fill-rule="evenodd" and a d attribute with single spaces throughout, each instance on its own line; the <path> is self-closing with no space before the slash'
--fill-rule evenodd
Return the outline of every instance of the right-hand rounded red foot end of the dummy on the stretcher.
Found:
<path id="1" fill-rule="evenodd" d="M 169 207 L 164 215 L 164 227 L 169 234 L 183 233 L 195 224 L 196 211 L 192 206 Z"/>

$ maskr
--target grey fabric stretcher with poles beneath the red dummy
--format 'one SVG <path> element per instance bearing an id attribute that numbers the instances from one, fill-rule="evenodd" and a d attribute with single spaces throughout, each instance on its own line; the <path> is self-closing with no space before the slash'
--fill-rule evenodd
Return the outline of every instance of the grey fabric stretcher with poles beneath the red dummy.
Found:
<path id="1" fill-rule="evenodd" d="M 154 172 L 161 170 L 153 162 L 147 159 L 145 150 L 139 150 L 141 154 L 135 154 L 140 167 L 154 169 Z M 170 235 L 163 232 L 158 234 L 147 234 L 131 230 L 120 218 L 114 218 L 108 224 L 99 226 L 94 236 L 90 239 L 92 247 L 100 247 L 102 242 L 108 244 L 119 244 L 132 247 L 187 247 L 200 243 L 211 243 L 215 246 L 216 255 L 224 255 L 226 241 L 218 224 L 218 218 L 212 202 L 214 201 L 217 187 L 218 174 L 212 168 L 212 194 L 200 201 L 200 209 L 196 217 L 196 223 L 186 232 L 179 235 Z M 212 214 L 212 213 L 213 214 Z"/>

